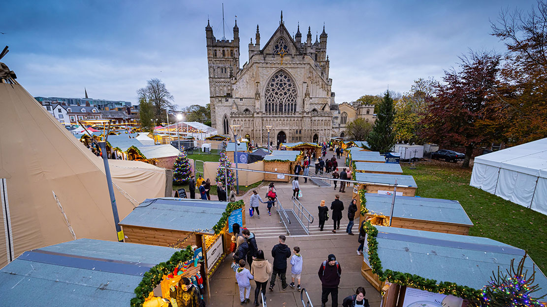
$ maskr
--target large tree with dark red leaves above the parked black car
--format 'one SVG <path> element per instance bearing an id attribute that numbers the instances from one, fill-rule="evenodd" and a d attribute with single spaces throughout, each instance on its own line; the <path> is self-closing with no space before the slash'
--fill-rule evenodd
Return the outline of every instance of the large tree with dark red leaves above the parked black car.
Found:
<path id="1" fill-rule="evenodd" d="M 421 137 L 445 146 L 465 148 L 462 167 L 469 167 L 473 149 L 495 139 L 491 118 L 499 101 L 501 56 L 472 52 L 460 57 L 459 70 L 445 71 L 445 85 L 438 85 L 421 121 Z"/>

